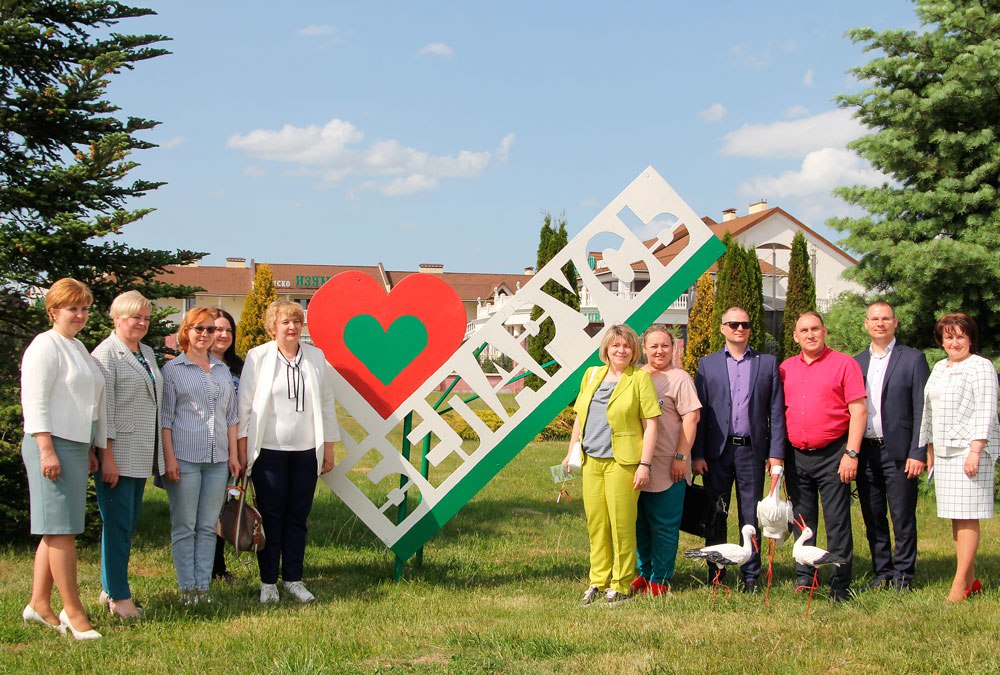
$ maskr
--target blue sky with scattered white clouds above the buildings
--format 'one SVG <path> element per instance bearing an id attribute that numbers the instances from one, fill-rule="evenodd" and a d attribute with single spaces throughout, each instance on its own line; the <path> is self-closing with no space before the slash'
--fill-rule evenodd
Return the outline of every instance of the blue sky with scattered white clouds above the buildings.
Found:
<path id="1" fill-rule="evenodd" d="M 168 185 L 124 240 L 280 263 L 519 272 L 541 212 L 570 236 L 653 165 L 696 212 L 766 198 L 819 227 L 879 183 L 833 103 L 868 57 L 849 28 L 905 0 L 144 3 L 173 53 L 113 79 L 162 124 Z M 837 235 L 832 235 L 836 237 Z"/>

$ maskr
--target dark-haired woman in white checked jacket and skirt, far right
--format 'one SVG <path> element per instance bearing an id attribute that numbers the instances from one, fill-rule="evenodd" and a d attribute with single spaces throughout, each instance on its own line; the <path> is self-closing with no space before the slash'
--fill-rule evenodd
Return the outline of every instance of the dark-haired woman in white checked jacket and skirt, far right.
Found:
<path id="1" fill-rule="evenodd" d="M 976 578 L 979 519 L 993 517 L 997 427 L 997 372 L 976 355 L 979 331 L 967 314 L 945 314 L 934 337 L 948 358 L 934 364 L 924 388 L 919 445 L 934 469 L 939 518 L 951 519 L 957 565 L 948 602 L 982 592 Z"/>

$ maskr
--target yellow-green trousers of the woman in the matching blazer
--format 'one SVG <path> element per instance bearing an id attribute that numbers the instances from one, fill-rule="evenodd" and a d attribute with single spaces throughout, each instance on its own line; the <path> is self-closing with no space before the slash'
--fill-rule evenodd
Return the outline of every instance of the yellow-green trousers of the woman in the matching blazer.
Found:
<path id="1" fill-rule="evenodd" d="M 583 507 L 590 534 L 590 585 L 628 593 L 635 578 L 636 466 L 613 459 L 583 460 Z"/>

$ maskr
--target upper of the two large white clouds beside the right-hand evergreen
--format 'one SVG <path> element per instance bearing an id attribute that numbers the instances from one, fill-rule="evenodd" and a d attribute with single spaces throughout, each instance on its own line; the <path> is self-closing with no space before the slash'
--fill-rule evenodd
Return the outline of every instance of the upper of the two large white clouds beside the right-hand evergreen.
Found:
<path id="1" fill-rule="evenodd" d="M 722 154 L 737 157 L 793 157 L 811 150 L 845 147 L 865 133 L 851 110 L 838 108 L 791 122 L 744 124 L 725 136 Z"/>

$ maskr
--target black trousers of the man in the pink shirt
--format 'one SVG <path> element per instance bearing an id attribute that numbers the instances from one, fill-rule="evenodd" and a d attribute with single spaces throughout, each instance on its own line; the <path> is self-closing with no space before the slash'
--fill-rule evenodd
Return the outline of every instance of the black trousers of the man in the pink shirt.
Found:
<path id="1" fill-rule="evenodd" d="M 851 486 L 840 480 L 840 460 L 847 447 L 847 435 L 824 448 L 799 450 L 793 448 L 785 455 L 786 465 L 794 463 L 792 470 L 785 467 L 788 476 L 788 496 L 796 516 L 802 516 L 813 531 L 806 544 L 815 545 L 819 522 L 819 503 L 823 505 L 823 522 L 826 525 L 826 549 L 844 558 L 847 563 L 831 567 L 830 588 L 846 592 L 851 586 L 854 562 L 854 536 L 851 533 Z M 795 566 L 799 585 L 812 583 L 813 568 Z"/>

